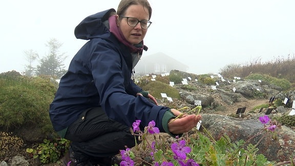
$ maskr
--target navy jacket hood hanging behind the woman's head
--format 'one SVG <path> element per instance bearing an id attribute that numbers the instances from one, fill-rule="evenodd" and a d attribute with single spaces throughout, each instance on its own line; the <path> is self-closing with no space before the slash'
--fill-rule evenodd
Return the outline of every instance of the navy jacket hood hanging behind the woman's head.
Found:
<path id="1" fill-rule="evenodd" d="M 78 39 L 89 40 L 96 37 L 103 38 L 108 28 L 103 24 L 109 19 L 110 14 L 116 12 L 115 9 L 109 9 L 90 15 L 83 19 L 75 28 L 75 36 Z"/>

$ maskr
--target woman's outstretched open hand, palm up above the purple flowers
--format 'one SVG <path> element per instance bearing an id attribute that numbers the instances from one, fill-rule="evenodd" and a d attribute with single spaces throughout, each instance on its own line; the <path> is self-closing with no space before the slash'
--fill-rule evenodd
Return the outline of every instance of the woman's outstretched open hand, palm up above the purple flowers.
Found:
<path id="1" fill-rule="evenodd" d="M 175 109 L 171 109 L 171 111 L 175 116 L 181 114 L 181 112 Z M 173 134 L 182 134 L 196 127 L 201 118 L 201 115 L 183 115 L 177 119 L 170 119 L 168 129 Z"/>

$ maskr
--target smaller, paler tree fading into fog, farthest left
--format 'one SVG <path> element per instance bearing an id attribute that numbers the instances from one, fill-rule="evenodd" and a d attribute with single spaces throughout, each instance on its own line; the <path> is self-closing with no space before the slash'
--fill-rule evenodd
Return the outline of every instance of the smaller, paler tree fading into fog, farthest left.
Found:
<path id="1" fill-rule="evenodd" d="M 25 67 L 25 75 L 31 77 L 31 76 L 33 76 L 34 70 L 35 70 L 35 68 L 33 67 L 33 62 L 37 58 L 39 58 L 39 55 L 35 51 L 33 51 L 32 49 L 26 50 L 26 51 L 24 51 L 24 53 L 25 53 L 25 58 L 29 63 Z"/>

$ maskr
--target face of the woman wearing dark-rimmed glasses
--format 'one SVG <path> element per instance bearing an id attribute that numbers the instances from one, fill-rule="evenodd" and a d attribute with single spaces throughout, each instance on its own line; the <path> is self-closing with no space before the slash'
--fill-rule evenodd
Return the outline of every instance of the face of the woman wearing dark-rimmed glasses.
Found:
<path id="1" fill-rule="evenodd" d="M 142 5 L 131 5 L 125 11 L 123 15 L 125 17 L 135 17 L 138 20 L 149 20 L 149 10 L 143 9 Z M 119 16 L 118 16 L 119 17 Z M 131 27 L 127 24 L 127 18 L 117 18 L 118 26 L 122 31 L 124 37 L 133 45 L 139 44 L 143 40 L 147 29 L 141 28 L 141 23 L 138 23 L 135 27 Z"/>

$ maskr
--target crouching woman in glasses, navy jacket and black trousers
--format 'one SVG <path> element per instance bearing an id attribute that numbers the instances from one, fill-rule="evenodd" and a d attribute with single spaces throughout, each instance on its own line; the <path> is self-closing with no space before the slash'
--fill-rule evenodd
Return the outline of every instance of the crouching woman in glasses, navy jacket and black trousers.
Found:
<path id="1" fill-rule="evenodd" d="M 66 164 L 111 165 L 119 150 L 135 146 L 129 128 L 136 119 L 141 129 L 154 120 L 160 132 L 171 136 L 191 130 L 200 120 L 189 115 L 168 124 L 180 112 L 158 106 L 131 79 L 147 49 L 143 38 L 151 15 L 147 0 L 122 0 L 117 13 L 96 13 L 75 28 L 77 38 L 89 41 L 73 57 L 50 105 L 54 130 L 72 141 Z"/>

